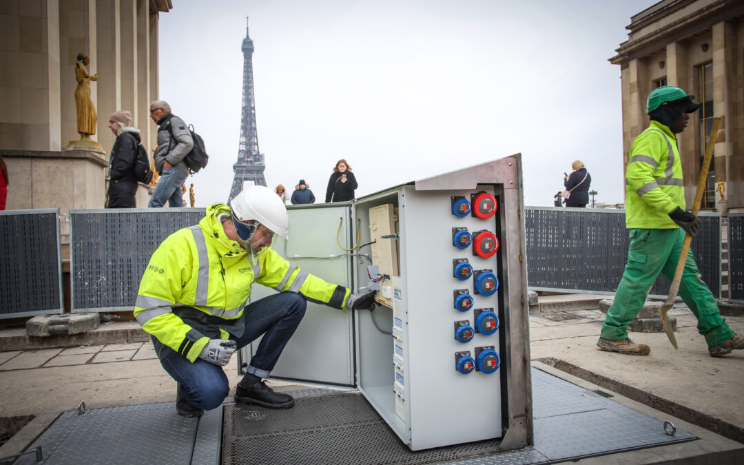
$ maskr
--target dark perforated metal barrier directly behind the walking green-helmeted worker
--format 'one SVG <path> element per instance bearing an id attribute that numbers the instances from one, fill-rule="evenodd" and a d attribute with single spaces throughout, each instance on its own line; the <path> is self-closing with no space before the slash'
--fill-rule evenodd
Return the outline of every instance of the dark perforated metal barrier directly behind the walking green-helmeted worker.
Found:
<path id="1" fill-rule="evenodd" d="M 691 248 L 702 279 L 721 295 L 721 215 L 701 213 Z M 525 208 L 527 283 L 539 291 L 614 294 L 628 257 L 625 211 L 586 208 Z M 666 297 L 659 277 L 650 295 Z"/>

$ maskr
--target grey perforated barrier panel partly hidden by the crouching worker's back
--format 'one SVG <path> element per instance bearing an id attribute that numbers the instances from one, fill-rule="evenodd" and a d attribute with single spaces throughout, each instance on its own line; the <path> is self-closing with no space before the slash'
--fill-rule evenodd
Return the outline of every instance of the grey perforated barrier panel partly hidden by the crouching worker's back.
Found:
<path id="1" fill-rule="evenodd" d="M 71 311 L 133 310 L 155 248 L 204 215 L 204 208 L 71 211 Z"/>

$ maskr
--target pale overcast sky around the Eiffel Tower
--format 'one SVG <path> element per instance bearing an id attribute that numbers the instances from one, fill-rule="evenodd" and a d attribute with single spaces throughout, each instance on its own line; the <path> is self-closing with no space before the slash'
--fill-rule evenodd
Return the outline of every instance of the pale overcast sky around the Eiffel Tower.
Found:
<path id="1" fill-rule="evenodd" d="M 597 202 L 623 202 L 623 1 L 173 0 L 160 15 L 160 97 L 205 140 L 187 180 L 224 202 L 237 161 L 246 16 L 269 187 L 322 202 L 346 158 L 357 197 L 522 153 L 525 205 L 552 205 L 571 161 Z"/>

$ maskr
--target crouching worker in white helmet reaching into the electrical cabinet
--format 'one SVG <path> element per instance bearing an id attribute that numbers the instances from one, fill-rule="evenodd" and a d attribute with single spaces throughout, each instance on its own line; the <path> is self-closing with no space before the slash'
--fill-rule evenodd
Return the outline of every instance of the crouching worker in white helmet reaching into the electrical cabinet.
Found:
<path id="1" fill-rule="evenodd" d="M 292 407 L 292 396 L 272 391 L 262 379 L 295 333 L 307 300 L 339 310 L 373 309 L 373 292 L 352 294 L 272 250 L 272 237 L 286 237 L 287 223 L 286 208 L 272 190 L 246 187 L 229 207 L 211 205 L 199 225 L 171 234 L 150 258 L 134 313 L 178 382 L 176 411 L 182 416 L 198 417 L 222 404 L 230 389 L 222 367 L 261 335 L 235 402 Z M 251 283 L 278 294 L 248 304 Z"/>

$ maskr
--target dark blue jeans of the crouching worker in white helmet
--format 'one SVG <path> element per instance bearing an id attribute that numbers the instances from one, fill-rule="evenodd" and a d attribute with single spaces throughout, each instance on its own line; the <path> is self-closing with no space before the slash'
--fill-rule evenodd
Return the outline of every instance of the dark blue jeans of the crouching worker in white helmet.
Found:
<path id="1" fill-rule="evenodd" d="M 243 348 L 263 334 L 256 354 L 248 365 L 248 373 L 261 378 L 269 377 L 284 346 L 295 333 L 305 315 L 307 301 L 295 292 L 281 292 L 249 304 L 243 310 L 246 330 L 243 336 L 230 339 Z M 228 377 L 222 367 L 202 359 L 191 363 L 185 356 L 161 344 L 152 336 L 155 352 L 161 365 L 176 382 L 188 402 L 198 408 L 211 410 L 222 405 L 230 391 Z"/>

